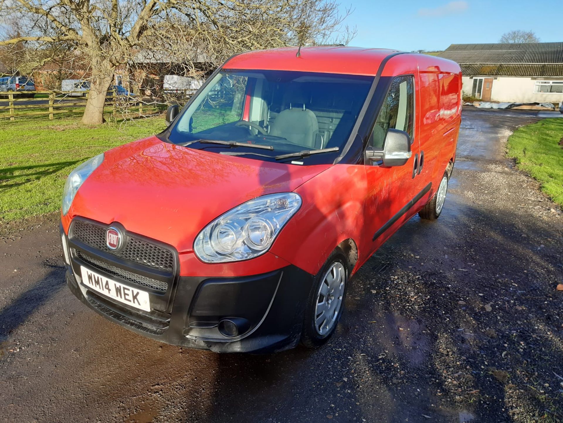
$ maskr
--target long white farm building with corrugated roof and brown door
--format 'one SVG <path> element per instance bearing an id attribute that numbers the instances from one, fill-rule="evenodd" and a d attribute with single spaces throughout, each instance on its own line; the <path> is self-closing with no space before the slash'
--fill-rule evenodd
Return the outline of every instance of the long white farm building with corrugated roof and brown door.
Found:
<path id="1" fill-rule="evenodd" d="M 463 95 L 510 103 L 563 100 L 563 42 L 452 44 L 439 56 L 461 66 Z"/>

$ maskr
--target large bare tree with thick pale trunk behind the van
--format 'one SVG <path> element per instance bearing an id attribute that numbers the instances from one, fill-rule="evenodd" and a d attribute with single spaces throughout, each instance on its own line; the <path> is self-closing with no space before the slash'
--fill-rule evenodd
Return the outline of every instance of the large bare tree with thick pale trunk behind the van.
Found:
<path id="1" fill-rule="evenodd" d="M 82 121 L 101 123 L 116 69 L 139 54 L 217 66 L 245 50 L 312 40 L 342 26 L 333 0 L 0 0 L 0 19 L 20 19 L 19 34 L 0 46 L 70 43 L 90 64 L 90 96 Z M 348 38 L 342 35 L 343 38 Z"/>

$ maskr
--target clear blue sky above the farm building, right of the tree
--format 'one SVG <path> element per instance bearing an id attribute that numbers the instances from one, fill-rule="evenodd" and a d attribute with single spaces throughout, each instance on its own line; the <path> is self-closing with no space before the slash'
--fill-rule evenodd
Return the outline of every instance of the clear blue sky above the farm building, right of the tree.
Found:
<path id="1" fill-rule="evenodd" d="M 494 43 L 513 29 L 532 30 L 540 41 L 563 41 L 563 1 L 352 0 L 345 23 L 356 26 L 350 43 L 397 50 L 444 50 L 454 43 Z M 350 1 L 350 0 L 348 0 Z"/>

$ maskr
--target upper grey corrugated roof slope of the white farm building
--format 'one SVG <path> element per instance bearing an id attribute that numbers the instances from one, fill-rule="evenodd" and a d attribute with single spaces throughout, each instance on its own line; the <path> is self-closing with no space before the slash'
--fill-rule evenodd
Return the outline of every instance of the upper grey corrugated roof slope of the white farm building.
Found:
<path id="1" fill-rule="evenodd" d="M 461 64 L 563 64 L 563 42 L 452 44 L 440 57 Z"/>

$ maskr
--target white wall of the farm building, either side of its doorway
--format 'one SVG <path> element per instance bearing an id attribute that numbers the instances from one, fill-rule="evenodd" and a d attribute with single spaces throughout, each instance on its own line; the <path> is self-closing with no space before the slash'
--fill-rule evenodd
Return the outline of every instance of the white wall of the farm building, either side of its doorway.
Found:
<path id="1" fill-rule="evenodd" d="M 563 101 L 563 93 L 534 92 L 535 81 L 563 81 L 563 78 L 497 77 L 493 80 L 492 101 L 507 103 L 553 103 Z M 471 95 L 473 78 L 462 77 L 462 92 Z"/>

